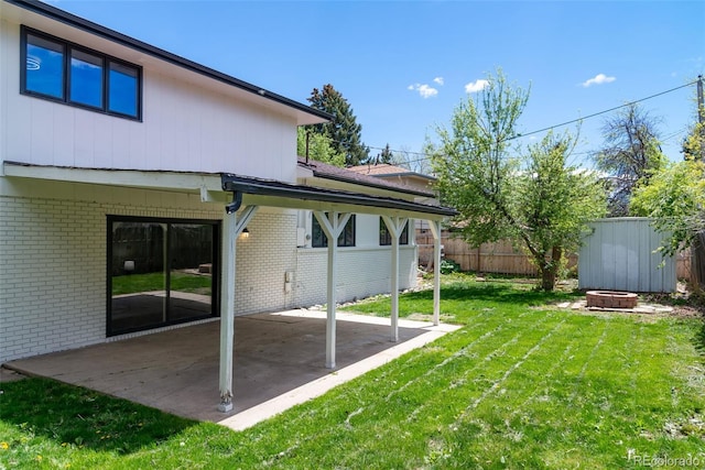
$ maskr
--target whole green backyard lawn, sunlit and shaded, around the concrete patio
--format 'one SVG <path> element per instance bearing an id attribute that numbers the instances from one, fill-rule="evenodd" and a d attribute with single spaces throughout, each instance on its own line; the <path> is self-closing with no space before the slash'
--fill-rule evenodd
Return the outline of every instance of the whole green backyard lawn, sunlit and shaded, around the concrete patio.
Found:
<path id="1" fill-rule="evenodd" d="M 576 295 L 452 276 L 442 311 L 462 329 L 241 433 L 51 381 L 3 384 L 0 468 L 705 466 L 703 323 L 552 306 Z M 400 302 L 403 316 L 432 305 L 429 292 Z"/>

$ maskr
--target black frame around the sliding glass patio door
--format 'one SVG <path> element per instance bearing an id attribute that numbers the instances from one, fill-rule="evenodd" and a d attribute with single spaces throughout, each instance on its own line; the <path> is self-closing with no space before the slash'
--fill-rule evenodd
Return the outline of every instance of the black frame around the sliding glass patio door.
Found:
<path id="1" fill-rule="evenodd" d="M 213 241 L 213 272 L 212 272 L 212 287 L 210 287 L 210 314 L 199 318 L 187 318 L 184 320 L 165 321 L 160 325 L 149 326 L 147 328 L 131 328 L 119 331 L 112 329 L 112 225 L 113 222 L 139 222 L 139 223 L 166 223 L 166 225 L 208 225 L 213 227 L 214 241 Z M 205 318 L 217 318 L 220 316 L 220 241 L 223 240 L 223 222 L 220 220 L 212 219 L 178 219 L 167 217 L 139 217 L 139 216 L 117 216 L 108 215 L 106 217 L 106 336 L 119 336 L 127 335 L 135 331 L 145 331 L 154 328 L 162 328 L 170 325 L 178 325 L 183 323 L 196 321 Z M 170 239 L 166 238 L 166 250 L 169 250 Z M 165 266 L 167 283 L 169 275 L 171 273 L 169 259 Z M 170 285 L 167 284 L 167 289 Z"/>

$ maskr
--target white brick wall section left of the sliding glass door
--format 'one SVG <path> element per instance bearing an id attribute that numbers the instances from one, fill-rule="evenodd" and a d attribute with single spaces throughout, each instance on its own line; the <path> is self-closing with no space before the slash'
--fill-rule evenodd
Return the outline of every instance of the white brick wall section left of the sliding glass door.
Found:
<path id="1" fill-rule="evenodd" d="M 89 203 L 0 198 L 0 361 L 105 338 L 99 214 Z"/>

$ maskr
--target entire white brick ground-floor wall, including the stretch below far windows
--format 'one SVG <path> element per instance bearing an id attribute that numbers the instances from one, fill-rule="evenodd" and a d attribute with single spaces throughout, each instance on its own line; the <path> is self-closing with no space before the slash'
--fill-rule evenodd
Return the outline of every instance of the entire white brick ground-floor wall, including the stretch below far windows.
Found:
<path id="1" fill-rule="evenodd" d="M 107 340 L 107 215 L 225 214 L 178 193 L 2 178 L 0 189 L 0 363 Z M 327 250 L 297 249 L 296 222 L 295 211 L 261 208 L 249 223 L 237 243 L 236 314 L 326 302 Z M 341 249 L 338 300 L 389 292 L 389 260 L 388 247 Z M 415 283 L 415 248 L 402 247 L 400 261 L 405 288 Z"/>

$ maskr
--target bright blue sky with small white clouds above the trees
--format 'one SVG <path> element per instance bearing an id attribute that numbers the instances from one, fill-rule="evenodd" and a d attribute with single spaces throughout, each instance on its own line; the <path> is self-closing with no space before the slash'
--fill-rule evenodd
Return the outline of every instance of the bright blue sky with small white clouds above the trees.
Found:
<path id="1" fill-rule="evenodd" d="M 301 102 L 329 83 L 352 107 L 371 154 L 388 143 L 421 151 L 497 67 L 531 86 L 524 134 L 705 74 L 702 0 L 51 3 Z M 681 159 L 694 95 L 691 86 L 641 103 L 662 119 L 671 160 Z M 608 116 L 583 122 L 576 163 L 589 165 Z"/>

